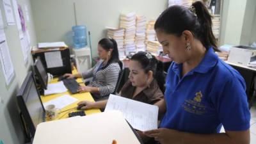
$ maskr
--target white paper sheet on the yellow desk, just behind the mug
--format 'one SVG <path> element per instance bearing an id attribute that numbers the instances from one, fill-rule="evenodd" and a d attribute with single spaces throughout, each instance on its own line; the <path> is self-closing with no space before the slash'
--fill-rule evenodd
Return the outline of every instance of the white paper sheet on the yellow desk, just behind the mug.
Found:
<path id="1" fill-rule="evenodd" d="M 56 99 L 52 99 L 49 102 L 44 102 L 44 108 L 50 104 L 54 104 L 56 108 L 62 109 L 76 101 L 77 99 L 74 97 L 70 97 L 70 95 L 63 95 Z"/>

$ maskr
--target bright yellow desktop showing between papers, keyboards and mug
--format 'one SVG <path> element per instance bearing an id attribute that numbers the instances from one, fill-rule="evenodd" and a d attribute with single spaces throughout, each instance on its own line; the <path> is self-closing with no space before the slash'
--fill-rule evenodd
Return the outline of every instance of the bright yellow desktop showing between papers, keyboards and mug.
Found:
<path id="1" fill-rule="evenodd" d="M 72 70 L 72 74 L 76 74 L 76 73 L 77 73 L 76 69 Z M 57 83 L 57 82 L 58 82 L 58 78 L 54 78 L 51 81 L 51 83 Z M 77 79 L 77 82 L 82 83 L 83 81 L 80 78 L 80 79 Z M 47 95 L 47 96 L 42 96 L 41 95 L 41 99 L 42 99 L 42 102 L 44 103 L 44 102 L 48 102 L 49 100 L 60 97 L 62 95 L 70 95 L 71 97 L 74 97 L 78 100 L 77 100 L 77 102 L 74 102 L 73 104 L 70 104 L 67 107 L 61 109 L 61 111 L 65 111 L 65 112 L 60 113 L 60 115 L 58 115 L 58 117 L 56 117 L 55 120 L 59 120 L 59 119 L 62 119 L 62 118 L 68 118 L 68 113 L 70 113 L 72 111 L 77 111 L 76 110 L 77 103 L 80 102 L 81 100 L 89 100 L 89 101 L 94 102 L 94 100 L 92 98 L 92 95 L 89 92 L 72 94 L 69 91 L 67 91 L 67 92 L 64 92 L 64 93 L 57 93 L 57 94 Z M 72 109 L 72 108 L 74 108 L 74 109 Z M 70 111 L 66 111 L 67 109 L 70 109 Z M 88 109 L 88 110 L 85 110 L 84 112 L 86 113 L 86 115 L 90 115 L 92 113 L 100 113 L 100 109 Z"/>

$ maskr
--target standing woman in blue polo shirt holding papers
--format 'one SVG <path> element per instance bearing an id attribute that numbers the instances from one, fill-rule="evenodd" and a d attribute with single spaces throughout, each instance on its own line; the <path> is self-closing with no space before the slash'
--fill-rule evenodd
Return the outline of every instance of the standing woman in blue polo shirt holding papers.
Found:
<path id="1" fill-rule="evenodd" d="M 166 108 L 164 117 L 159 129 L 144 133 L 161 144 L 250 143 L 244 79 L 214 53 L 216 39 L 204 4 L 171 6 L 154 28 L 173 63 L 164 100 L 159 102 L 160 108 Z"/>

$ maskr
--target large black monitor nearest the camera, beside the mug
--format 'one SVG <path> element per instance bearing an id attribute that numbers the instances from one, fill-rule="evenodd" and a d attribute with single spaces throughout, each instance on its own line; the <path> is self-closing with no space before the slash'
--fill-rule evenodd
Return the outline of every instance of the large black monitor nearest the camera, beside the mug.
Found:
<path id="1" fill-rule="evenodd" d="M 17 94 L 20 115 L 28 138 L 35 136 L 36 125 L 45 121 L 45 109 L 36 89 L 33 73 L 28 72 Z"/>

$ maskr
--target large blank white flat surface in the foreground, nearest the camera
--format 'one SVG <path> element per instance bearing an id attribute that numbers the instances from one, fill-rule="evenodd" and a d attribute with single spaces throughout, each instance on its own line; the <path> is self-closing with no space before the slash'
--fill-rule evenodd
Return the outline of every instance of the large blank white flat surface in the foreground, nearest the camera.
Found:
<path id="1" fill-rule="evenodd" d="M 38 125 L 33 144 L 140 144 L 122 113 L 109 111 L 43 122 Z"/>

